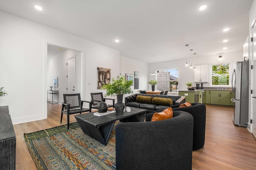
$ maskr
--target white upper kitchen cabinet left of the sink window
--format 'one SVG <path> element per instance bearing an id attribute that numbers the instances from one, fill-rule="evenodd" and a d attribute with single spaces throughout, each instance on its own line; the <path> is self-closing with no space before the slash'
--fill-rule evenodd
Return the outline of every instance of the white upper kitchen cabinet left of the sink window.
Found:
<path id="1" fill-rule="evenodd" d="M 194 81 L 195 82 L 208 82 L 208 65 L 195 66 Z"/>

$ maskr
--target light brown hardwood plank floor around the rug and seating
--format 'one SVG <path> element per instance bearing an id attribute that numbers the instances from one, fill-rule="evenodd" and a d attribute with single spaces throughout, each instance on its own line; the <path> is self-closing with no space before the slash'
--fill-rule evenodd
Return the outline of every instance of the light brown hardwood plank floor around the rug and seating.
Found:
<path id="1" fill-rule="evenodd" d="M 24 141 L 24 133 L 66 124 L 60 123 L 60 104 L 48 104 L 48 119 L 14 125 L 16 170 L 36 170 Z M 70 123 L 75 122 L 74 115 Z M 232 107 L 206 105 L 206 136 L 202 149 L 193 151 L 193 170 L 256 170 L 256 139 L 232 122 Z"/>

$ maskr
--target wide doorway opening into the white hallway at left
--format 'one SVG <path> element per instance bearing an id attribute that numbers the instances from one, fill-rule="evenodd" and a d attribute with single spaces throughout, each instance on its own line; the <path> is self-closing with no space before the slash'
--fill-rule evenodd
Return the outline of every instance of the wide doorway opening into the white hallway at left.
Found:
<path id="1" fill-rule="evenodd" d="M 63 94 L 82 92 L 82 52 L 51 44 L 47 47 L 47 88 L 50 89 L 53 78 L 58 77 L 58 87 L 52 90 L 58 91 L 60 104 L 64 102 Z"/>

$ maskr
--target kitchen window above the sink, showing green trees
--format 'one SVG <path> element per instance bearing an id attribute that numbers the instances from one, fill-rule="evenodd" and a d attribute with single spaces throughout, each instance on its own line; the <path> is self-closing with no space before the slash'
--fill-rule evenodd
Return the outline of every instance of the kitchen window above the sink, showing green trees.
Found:
<path id="1" fill-rule="evenodd" d="M 229 85 L 229 65 L 212 65 L 212 86 Z"/>

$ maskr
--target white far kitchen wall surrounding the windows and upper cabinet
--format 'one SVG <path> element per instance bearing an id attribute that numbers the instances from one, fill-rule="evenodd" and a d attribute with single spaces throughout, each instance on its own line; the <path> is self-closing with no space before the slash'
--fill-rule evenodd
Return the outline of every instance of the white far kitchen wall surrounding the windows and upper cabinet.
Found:
<path id="1" fill-rule="evenodd" d="M 245 39 L 246 40 L 246 39 Z M 244 40 L 244 41 L 245 41 Z M 218 56 L 222 56 L 222 60 L 218 60 Z M 169 68 L 179 68 L 179 90 L 185 90 L 187 88 L 186 82 L 194 82 L 194 69 L 191 69 L 190 66 L 185 66 L 186 62 L 194 65 L 209 65 L 209 75 L 208 80 L 210 81 L 210 66 L 211 64 L 220 64 L 220 63 L 230 63 L 230 72 L 234 69 L 234 63 L 236 61 L 243 61 L 243 51 L 235 51 L 232 53 L 223 53 L 218 55 L 209 55 L 205 57 L 193 57 L 180 60 L 173 60 L 161 63 L 153 63 L 149 64 L 148 72 L 152 72 L 152 70 L 160 70 L 160 69 L 169 69 Z M 194 68 L 194 67 L 193 67 Z M 154 75 L 149 75 L 149 80 L 155 79 Z M 231 85 L 230 85 L 231 87 Z M 148 85 L 148 89 L 150 89 L 150 85 Z"/>

